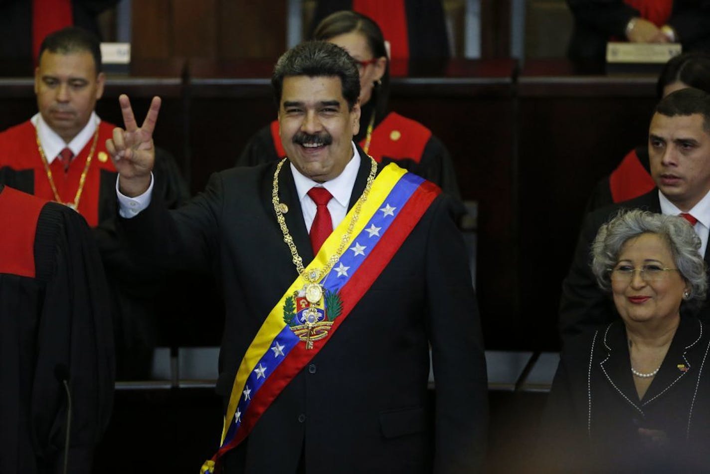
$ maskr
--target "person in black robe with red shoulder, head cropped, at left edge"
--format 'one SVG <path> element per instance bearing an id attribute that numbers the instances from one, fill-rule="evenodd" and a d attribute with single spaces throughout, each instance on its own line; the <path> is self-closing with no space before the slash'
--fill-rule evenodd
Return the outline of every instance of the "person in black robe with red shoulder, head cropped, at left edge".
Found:
<path id="1" fill-rule="evenodd" d="M 75 211 L 0 184 L 0 473 L 90 473 L 114 346 L 96 244 Z"/>

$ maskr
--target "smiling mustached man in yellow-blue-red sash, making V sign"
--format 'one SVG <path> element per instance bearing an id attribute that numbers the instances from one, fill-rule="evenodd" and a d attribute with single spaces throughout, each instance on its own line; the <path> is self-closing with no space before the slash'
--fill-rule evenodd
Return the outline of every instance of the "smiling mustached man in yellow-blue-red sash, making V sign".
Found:
<path id="1" fill-rule="evenodd" d="M 288 161 L 219 172 L 176 211 L 150 192 L 160 99 L 138 128 L 121 97 L 107 143 L 129 238 L 222 282 L 225 423 L 203 472 L 479 472 L 486 364 L 449 198 L 354 145 L 342 48 L 303 43 L 272 83 Z"/>

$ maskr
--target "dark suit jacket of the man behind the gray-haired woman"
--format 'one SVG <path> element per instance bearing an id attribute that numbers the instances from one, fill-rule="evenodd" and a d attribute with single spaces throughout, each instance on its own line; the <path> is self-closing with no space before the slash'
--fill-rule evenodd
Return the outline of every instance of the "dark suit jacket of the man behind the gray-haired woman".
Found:
<path id="1" fill-rule="evenodd" d="M 629 201 L 607 206 L 587 214 L 582 224 L 574 250 L 574 260 L 569 268 L 567 277 L 562 282 L 562 298 L 559 304 L 559 331 L 563 342 L 571 336 L 581 333 L 585 328 L 606 324 L 618 319 L 618 313 L 611 297 L 603 292 L 596 283 L 591 272 L 591 243 L 594 242 L 601 224 L 616 216 L 621 209 L 644 209 L 660 213 L 661 205 L 658 200 L 658 189 L 643 194 L 643 196 Z M 710 248 L 710 246 L 708 246 Z M 708 248 L 705 250 L 705 262 L 710 263 Z M 689 312 L 681 308 L 682 314 Z M 701 308 L 692 314 L 704 321 L 710 321 L 710 304 L 708 300 Z"/>

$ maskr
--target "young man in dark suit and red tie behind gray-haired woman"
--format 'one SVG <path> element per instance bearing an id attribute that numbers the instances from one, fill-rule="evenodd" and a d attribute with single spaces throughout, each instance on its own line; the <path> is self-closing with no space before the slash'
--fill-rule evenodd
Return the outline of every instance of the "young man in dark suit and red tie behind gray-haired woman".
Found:
<path id="1" fill-rule="evenodd" d="M 559 329 L 562 339 L 579 334 L 584 327 L 611 322 L 616 316 L 611 299 L 596 285 L 589 268 L 591 242 L 599 226 L 619 209 L 647 209 L 662 214 L 683 214 L 707 251 L 710 231 L 710 95 L 683 89 L 656 106 L 648 133 L 651 175 L 657 188 L 643 196 L 591 212 L 586 216 L 574 253 L 572 267 L 562 283 Z M 708 321 L 708 302 L 699 309 Z"/>

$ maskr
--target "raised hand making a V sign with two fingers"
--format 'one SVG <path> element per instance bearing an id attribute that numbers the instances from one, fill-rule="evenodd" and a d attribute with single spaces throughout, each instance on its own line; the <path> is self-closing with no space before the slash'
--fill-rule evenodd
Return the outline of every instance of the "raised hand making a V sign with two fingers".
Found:
<path id="1" fill-rule="evenodd" d="M 151 170 L 155 163 L 153 130 L 160 111 L 160 97 L 153 97 L 140 128 L 126 94 L 119 96 L 119 104 L 126 128 L 114 128 L 114 138 L 106 140 L 106 148 L 119 172 L 121 192 L 134 197 L 146 192 L 151 184 Z"/>

